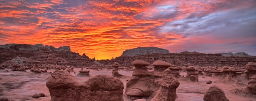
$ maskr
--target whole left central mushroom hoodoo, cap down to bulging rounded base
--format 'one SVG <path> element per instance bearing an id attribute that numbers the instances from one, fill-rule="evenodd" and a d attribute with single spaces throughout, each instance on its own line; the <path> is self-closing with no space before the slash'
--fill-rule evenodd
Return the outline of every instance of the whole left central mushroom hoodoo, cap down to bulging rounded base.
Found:
<path id="1" fill-rule="evenodd" d="M 145 66 L 149 63 L 142 60 L 132 62 L 135 66 L 133 77 L 126 84 L 125 94 L 131 99 L 154 97 L 160 87 L 160 79 L 155 78 Z"/>

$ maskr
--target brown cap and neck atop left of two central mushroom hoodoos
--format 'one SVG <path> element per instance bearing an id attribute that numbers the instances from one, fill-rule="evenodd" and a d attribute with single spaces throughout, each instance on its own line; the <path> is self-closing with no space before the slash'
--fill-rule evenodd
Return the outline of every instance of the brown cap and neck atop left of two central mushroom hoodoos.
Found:
<path id="1" fill-rule="evenodd" d="M 145 67 L 150 65 L 148 62 L 143 60 L 135 60 L 131 63 L 131 65 L 135 66 L 132 76 L 152 76 L 152 72 L 147 71 L 147 68 Z"/>

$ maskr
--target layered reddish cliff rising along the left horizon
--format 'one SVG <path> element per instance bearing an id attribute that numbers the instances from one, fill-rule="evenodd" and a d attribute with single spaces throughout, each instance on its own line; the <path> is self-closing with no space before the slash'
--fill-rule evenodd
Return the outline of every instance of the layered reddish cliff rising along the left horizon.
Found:
<path id="1" fill-rule="evenodd" d="M 6 44 L 0 45 L 0 63 L 15 57 L 26 57 L 40 61 L 40 64 L 58 64 L 70 66 L 92 65 L 94 60 L 86 55 L 70 51 L 70 46 L 44 46 L 43 44 Z"/>

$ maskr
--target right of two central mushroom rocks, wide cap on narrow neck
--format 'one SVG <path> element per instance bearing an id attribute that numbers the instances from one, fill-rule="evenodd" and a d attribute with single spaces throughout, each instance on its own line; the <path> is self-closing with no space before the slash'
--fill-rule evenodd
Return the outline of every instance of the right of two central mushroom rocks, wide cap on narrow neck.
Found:
<path id="1" fill-rule="evenodd" d="M 167 63 L 162 60 L 157 60 L 152 65 L 154 66 L 153 75 L 157 77 L 162 77 L 163 71 L 166 70 L 169 66 L 172 66 L 171 63 Z"/>

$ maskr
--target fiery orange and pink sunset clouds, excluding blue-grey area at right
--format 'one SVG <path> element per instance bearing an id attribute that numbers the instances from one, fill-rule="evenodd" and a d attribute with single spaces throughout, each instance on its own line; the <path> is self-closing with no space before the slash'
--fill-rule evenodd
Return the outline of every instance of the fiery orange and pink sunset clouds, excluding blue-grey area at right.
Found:
<path id="1" fill-rule="evenodd" d="M 207 34 L 207 28 L 214 29 L 205 23 L 212 19 L 211 14 L 253 7 L 249 1 L 239 3 L 225 0 L 4 0 L 0 1 L 0 44 L 68 45 L 73 52 L 96 59 L 111 59 L 125 49 L 138 46 L 180 51 L 179 45 L 186 41 L 200 44 L 199 33 Z M 204 25 L 200 25 L 202 23 Z M 197 31 L 198 28 L 206 31 Z M 224 42 L 213 38 L 208 41 L 211 41 L 208 44 Z"/>

